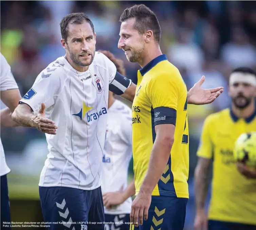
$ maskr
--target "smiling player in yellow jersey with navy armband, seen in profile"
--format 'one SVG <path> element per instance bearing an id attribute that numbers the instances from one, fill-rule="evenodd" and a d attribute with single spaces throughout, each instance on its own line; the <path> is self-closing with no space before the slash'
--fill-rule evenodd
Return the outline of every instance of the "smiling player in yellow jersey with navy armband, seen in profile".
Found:
<path id="1" fill-rule="evenodd" d="M 134 5 L 120 21 L 118 48 L 142 67 L 132 104 L 136 198 L 131 229 L 182 230 L 188 199 L 187 103 L 195 101 L 187 95 L 179 70 L 160 50 L 156 15 L 145 5 Z M 222 91 L 216 89 L 216 95 Z"/>

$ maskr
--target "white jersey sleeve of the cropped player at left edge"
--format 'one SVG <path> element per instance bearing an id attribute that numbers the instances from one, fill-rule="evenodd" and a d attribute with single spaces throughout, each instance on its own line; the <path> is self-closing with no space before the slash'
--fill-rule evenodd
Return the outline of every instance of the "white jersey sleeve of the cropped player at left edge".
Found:
<path id="1" fill-rule="evenodd" d="M 1 54 L 1 79 L 0 91 L 18 89 L 18 85 L 11 72 L 11 66 Z"/>

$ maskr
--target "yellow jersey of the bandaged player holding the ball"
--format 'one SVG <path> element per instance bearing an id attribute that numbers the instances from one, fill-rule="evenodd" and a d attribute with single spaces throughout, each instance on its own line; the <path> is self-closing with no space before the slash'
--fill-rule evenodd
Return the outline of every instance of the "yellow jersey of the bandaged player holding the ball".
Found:
<path id="1" fill-rule="evenodd" d="M 230 109 L 209 115 L 197 155 L 213 158 L 209 219 L 256 225 L 256 179 L 241 175 L 233 157 L 240 134 L 256 130 L 256 111 L 238 119 Z"/>

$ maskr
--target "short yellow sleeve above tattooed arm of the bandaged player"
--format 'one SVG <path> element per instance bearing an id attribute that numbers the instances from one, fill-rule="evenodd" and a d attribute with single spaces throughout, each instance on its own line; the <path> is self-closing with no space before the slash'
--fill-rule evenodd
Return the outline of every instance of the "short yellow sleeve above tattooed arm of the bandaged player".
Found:
<path id="1" fill-rule="evenodd" d="M 208 116 L 203 124 L 203 129 L 201 133 L 199 148 L 197 151 L 197 156 L 211 159 L 213 157 L 213 142 L 211 138 L 210 130 L 212 129 L 213 123 L 211 115 Z"/>

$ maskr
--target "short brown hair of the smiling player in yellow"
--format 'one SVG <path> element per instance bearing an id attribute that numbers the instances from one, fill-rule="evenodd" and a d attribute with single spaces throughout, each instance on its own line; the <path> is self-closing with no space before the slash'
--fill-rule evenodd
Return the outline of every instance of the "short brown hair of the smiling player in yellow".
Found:
<path id="1" fill-rule="evenodd" d="M 151 9 L 144 4 L 134 5 L 130 8 L 126 8 L 120 16 L 120 22 L 124 22 L 129 18 L 135 18 L 134 28 L 140 34 L 145 33 L 147 30 L 152 30 L 155 40 L 160 43 L 161 39 L 161 27 L 157 16 Z"/>

